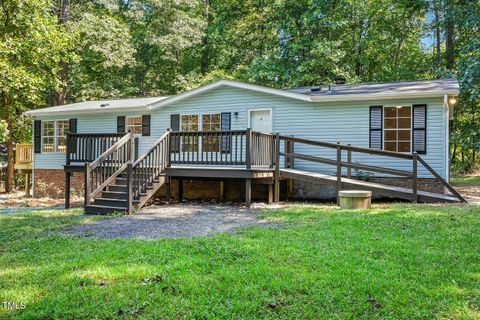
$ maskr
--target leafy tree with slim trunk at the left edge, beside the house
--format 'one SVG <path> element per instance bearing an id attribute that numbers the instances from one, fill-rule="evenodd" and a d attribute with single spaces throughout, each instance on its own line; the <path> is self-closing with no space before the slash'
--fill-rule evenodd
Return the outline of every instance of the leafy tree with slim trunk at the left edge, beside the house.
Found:
<path id="1" fill-rule="evenodd" d="M 23 111 L 42 105 L 45 90 L 57 88 L 60 56 L 71 37 L 57 28 L 46 0 L 0 0 L 1 119 L 10 132 L 7 142 L 7 191 L 14 186 L 15 138 L 21 134 Z"/>

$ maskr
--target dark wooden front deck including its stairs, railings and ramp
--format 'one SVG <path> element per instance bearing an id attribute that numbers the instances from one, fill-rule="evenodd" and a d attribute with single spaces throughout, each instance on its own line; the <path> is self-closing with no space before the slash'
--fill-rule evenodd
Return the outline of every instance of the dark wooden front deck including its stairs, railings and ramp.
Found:
<path id="1" fill-rule="evenodd" d="M 172 180 L 243 181 L 246 206 L 251 203 L 253 182 L 267 184 L 269 202 L 278 202 L 282 179 L 333 184 L 337 195 L 342 189 L 359 189 L 414 203 L 466 202 L 415 152 L 408 154 L 374 150 L 253 132 L 250 129 L 209 132 L 167 130 L 140 156 L 131 133 L 71 134 L 67 140 L 65 204 L 69 205 L 72 172 L 84 172 L 85 209 L 89 213 L 107 213 L 112 210 L 118 211 L 119 208 L 131 212 L 133 208 L 138 209 L 146 203 L 162 185 L 166 185 L 165 190 L 169 199 Z M 335 149 L 336 157 L 331 159 L 296 153 L 296 144 Z M 354 163 L 352 162 L 354 152 L 410 160 L 412 170 Z M 345 153 L 346 159 L 342 159 Z M 295 169 L 295 159 L 332 165 L 336 167 L 336 174 L 327 175 Z M 419 191 L 417 188 L 419 165 L 423 165 L 451 194 Z M 346 168 L 346 177 L 342 176 L 343 168 Z M 352 177 L 352 168 L 408 178 L 412 187 L 404 188 L 357 180 Z M 179 183 L 178 186 L 179 198 L 182 199 L 183 183 Z"/>

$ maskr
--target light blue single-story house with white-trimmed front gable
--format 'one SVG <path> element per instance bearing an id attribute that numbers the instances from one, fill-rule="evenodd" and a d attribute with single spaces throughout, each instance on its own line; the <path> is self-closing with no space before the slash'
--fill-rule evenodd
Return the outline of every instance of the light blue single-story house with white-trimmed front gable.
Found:
<path id="1" fill-rule="evenodd" d="M 413 195 L 416 201 L 421 192 L 442 193 L 448 185 L 449 119 L 458 94 L 456 79 L 283 90 L 221 80 L 169 97 L 87 101 L 33 110 L 27 114 L 34 118 L 34 194 L 49 192 L 49 187 L 60 194 L 70 186 L 83 189 L 85 181 L 86 191 L 96 188 L 100 198 L 108 184 L 121 179 L 125 183 L 133 180 L 135 188 L 139 176 L 128 174 L 131 161 L 133 174 L 140 170 L 137 174 L 143 177 L 149 170 L 155 171 L 144 181 L 149 188 L 144 185 L 136 198 L 156 191 L 161 186 L 152 186 L 161 180 L 166 193 L 171 192 L 172 183 L 180 181 L 175 188 L 180 196 L 195 192 L 187 185 L 196 185 L 197 192 L 206 194 L 215 194 L 220 188 L 225 196 L 230 191 L 223 182 L 232 181 L 230 189 L 245 189 L 250 194 L 253 183 L 254 191 L 255 185 L 263 185 L 258 192 L 265 190 L 271 199 L 272 193 L 275 198 L 280 193 L 275 179 L 288 181 L 281 188 L 286 188 L 290 197 L 331 197 L 342 185 L 357 183 L 342 180 L 343 184 L 333 183 L 333 189 L 321 187 L 332 185 L 330 178 L 335 182 L 343 176 L 368 180 L 372 183 L 369 189 L 375 192 L 382 187 L 378 189 L 374 183 L 409 188 L 409 199 Z M 67 137 L 68 132 L 71 135 Z M 129 137 L 125 137 L 127 132 Z M 166 133 L 168 141 L 160 142 Z M 341 147 L 336 148 L 337 143 Z M 102 172 L 87 172 L 87 177 L 85 170 L 90 169 L 85 169 L 85 163 L 100 170 L 98 158 L 113 145 L 115 155 L 100 159 L 108 161 L 111 168 L 104 163 Z M 152 151 L 154 146 L 157 149 Z M 155 160 L 135 169 L 141 165 L 135 162 L 147 161 L 146 154 L 150 158 L 152 152 Z M 417 165 L 417 157 L 429 168 Z M 348 163 L 342 162 L 345 160 Z M 280 166 L 283 171 L 276 173 Z M 296 171 L 287 172 L 286 167 Z M 305 172 L 317 176 L 307 177 Z M 330 178 L 322 180 L 319 175 Z M 92 179 L 100 182 L 95 185 Z M 239 185 L 235 179 L 244 179 L 246 184 Z M 213 192 L 211 188 L 217 189 Z M 387 195 L 398 195 L 389 192 Z"/>

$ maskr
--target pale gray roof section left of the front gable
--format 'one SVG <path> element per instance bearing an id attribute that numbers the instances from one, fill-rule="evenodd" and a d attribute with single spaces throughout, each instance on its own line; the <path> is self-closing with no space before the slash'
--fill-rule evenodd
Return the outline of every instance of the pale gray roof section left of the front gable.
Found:
<path id="1" fill-rule="evenodd" d="M 96 100 L 96 101 L 84 101 L 71 104 L 65 104 L 57 107 L 50 107 L 44 109 L 36 109 L 26 112 L 26 114 L 50 114 L 50 113 L 76 113 L 76 112 L 108 112 L 110 110 L 121 110 L 123 108 L 144 108 L 148 105 L 164 100 L 168 96 L 164 97 L 148 97 L 148 98 L 130 98 L 130 99 L 117 99 L 117 100 Z"/>

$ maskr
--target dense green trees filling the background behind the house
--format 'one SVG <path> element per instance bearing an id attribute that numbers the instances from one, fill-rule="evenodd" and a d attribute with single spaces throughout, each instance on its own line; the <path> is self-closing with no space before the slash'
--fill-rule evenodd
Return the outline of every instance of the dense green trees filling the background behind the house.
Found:
<path id="1" fill-rule="evenodd" d="M 453 160 L 473 166 L 480 149 L 478 1 L 2 3 L 0 87 L 15 119 L 51 105 L 61 84 L 66 101 L 77 102 L 171 95 L 220 78 L 284 88 L 331 84 L 337 76 L 349 83 L 456 76 Z M 62 3 L 69 4 L 64 18 Z M 428 46 L 427 35 L 434 39 Z"/>

